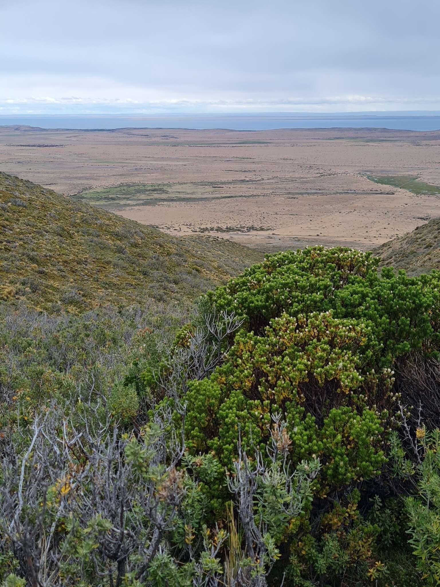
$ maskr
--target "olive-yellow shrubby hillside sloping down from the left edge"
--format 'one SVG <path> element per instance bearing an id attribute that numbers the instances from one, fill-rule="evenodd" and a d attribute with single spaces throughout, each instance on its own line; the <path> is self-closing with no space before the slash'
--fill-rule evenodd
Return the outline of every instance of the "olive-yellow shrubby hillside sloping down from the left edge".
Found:
<path id="1" fill-rule="evenodd" d="M 0 173 L 0 298 L 53 311 L 194 299 L 262 254 L 173 238 Z"/>

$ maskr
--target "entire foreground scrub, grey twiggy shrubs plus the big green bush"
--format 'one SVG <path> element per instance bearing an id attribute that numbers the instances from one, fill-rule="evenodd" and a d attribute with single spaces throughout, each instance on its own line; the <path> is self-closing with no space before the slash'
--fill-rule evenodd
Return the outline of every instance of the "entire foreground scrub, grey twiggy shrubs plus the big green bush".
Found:
<path id="1" fill-rule="evenodd" d="M 189 322 L 5 302 L 4 585 L 438 585 L 440 272 L 378 262 L 269 255 Z"/>

